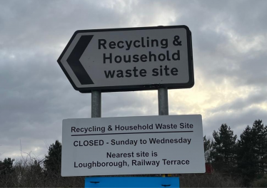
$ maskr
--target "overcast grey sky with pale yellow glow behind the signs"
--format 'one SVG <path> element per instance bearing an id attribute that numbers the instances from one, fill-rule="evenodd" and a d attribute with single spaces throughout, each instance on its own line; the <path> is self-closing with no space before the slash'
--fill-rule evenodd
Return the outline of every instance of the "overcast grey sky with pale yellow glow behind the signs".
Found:
<path id="1" fill-rule="evenodd" d="M 56 60 L 74 31 L 186 25 L 195 85 L 169 90 L 171 115 L 201 114 L 240 135 L 267 124 L 267 1 L 0 0 L 0 160 L 44 157 L 62 120 L 91 117 L 91 94 L 72 88 Z M 158 115 L 157 91 L 102 94 L 102 117 Z"/>

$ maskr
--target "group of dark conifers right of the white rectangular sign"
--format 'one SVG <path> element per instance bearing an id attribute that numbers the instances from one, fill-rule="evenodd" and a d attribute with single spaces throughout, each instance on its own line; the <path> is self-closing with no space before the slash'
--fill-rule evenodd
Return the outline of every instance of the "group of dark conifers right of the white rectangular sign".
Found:
<path id="1" fill-rule="evenodd" d="M 267 187 L 267 126 L 255 120 L 243 130 L 240 138 L 231 127 L 222 124 L 213 131 L 213 139 L 204 136 L 206 162 L 214 171 L 241 177 L 243 186 L 251 186 L 254 180 L 266 179 Z"/>

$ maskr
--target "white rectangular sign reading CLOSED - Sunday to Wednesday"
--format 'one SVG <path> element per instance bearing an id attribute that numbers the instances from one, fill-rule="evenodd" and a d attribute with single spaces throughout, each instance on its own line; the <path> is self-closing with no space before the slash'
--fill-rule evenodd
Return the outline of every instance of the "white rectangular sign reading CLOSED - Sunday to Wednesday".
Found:
<path id="1" fill-rule="evenodd" d="M 61 175 L 203 173 L 201 115 L 63 120 Z"/>

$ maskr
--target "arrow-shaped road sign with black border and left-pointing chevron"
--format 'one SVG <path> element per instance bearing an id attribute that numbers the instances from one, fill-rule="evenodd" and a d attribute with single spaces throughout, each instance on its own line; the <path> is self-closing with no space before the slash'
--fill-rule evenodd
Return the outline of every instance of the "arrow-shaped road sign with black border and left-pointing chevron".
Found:
<path id="1" fill-rule="evenodd" d="M 81 93 L 191 88 L 194 84 L 187 26 L 76 31 L 58 63 Z"/>

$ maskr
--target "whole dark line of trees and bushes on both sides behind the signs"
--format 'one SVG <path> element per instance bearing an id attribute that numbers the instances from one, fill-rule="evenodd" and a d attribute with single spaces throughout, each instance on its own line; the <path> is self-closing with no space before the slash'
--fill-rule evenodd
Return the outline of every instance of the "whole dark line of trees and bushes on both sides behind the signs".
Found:
<path id="1" fill-rule="evenodd" d="M 267 187 L 267 126 L 255 120 L 240 138 L 222 124 L 210 140 L 203 137 L 211 174 L 182 174 L 181 187 Z M 205 176 L 204 176 L 205 175 Z M 146 175 L 151 176 L 151 175 Z M 192 181 L 193 179 L 193 181 Z M 227 184 L 226 184 L 227 182 Z M 83 187 L 84 177 L 61 177 L 61 142 L 44 159 L 0 160 L 0 187 Z"/>

